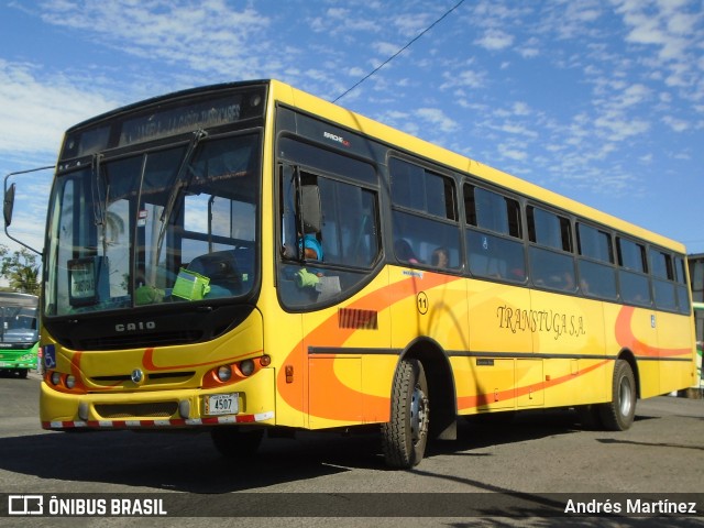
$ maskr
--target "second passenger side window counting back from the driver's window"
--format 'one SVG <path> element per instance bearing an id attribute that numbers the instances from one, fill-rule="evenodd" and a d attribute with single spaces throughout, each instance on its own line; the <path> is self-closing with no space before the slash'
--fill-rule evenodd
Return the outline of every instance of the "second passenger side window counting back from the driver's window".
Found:
<path id="1" fill-rule="evenodd" d="M 525 282 L 518 201 L 470 184 L 464 184 L 463 194 L 470 272 L 480 277 Z"/>

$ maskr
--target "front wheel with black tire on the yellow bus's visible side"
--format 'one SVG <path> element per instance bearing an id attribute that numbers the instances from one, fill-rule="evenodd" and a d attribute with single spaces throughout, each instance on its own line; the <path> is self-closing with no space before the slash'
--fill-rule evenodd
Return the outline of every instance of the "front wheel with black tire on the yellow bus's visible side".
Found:
<path id="1" fill-rule="evenodd" d="M 430 402 L 422 364 L 403 360 L 392 389 L 392 418 L 382 426 L 382 447 L 386 464 L 409 469 L 422 460 L 428 442 Z"/>

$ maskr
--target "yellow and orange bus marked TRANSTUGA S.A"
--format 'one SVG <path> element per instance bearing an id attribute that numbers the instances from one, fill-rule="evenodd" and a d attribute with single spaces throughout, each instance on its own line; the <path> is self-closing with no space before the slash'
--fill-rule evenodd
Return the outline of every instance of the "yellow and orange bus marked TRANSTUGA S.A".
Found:
<path id="1" fill-rule="evenodd" d="M 45 429 L 630 427 L 694 382 L 685 249 L 275 80 L 69 129 L 43 256 Z"/>

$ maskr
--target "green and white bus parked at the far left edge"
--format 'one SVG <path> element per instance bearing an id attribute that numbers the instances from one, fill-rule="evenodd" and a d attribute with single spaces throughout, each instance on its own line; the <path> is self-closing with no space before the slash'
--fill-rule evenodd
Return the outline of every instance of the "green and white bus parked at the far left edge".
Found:
<path id="1" fill-rule="evenodd" d="M 0 292 L 0 372 L 26 377 L 37 369 L 38 297 Z"/>

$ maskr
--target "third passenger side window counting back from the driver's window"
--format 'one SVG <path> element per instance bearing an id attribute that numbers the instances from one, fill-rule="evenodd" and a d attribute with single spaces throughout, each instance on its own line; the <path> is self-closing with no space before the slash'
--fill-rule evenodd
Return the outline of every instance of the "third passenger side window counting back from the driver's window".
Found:
<path id="1" fill-rule="evenodd" d="M 576 292 L 572 234 L 565 217 L 528 207 L 528 250 L 530 274 L 538 287 L 560 292 Z"/>

